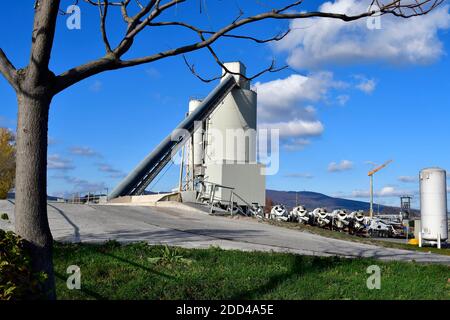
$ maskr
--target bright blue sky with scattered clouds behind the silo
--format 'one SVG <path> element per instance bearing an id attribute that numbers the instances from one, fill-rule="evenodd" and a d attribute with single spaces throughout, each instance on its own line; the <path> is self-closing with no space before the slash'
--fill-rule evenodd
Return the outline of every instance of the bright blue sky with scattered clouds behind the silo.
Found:
<path id="1" fill-rule="evenodd" d="M 33 2 L 11 2 L 0 12 L 0 46 L 17 67 L 29 57 Z M 63 0 L 62 8 L 71 3 Z M 199 3 L 180 5 L 163 18 L 217 29 L 238 8 L 254 13 L 287 1 L 207 1 L 201 13 Z M 305 1 L 300 8 L 318 9 L 317 4 Z M 254 81 L 260 126 L 278 125 L 282 133 L 280 171 L 268 177 L 267 188 L 367 200 L 370 163 L 393 159 L 375 177 L 377 201 L 397 205 L 398 196 L 409 193 L 418 205 L 419 170 L 450 168 L 448 5 L 446 1 L 435 12 L 411 20 L 382 17 L 381 29 L 375 30 L 367 28 L 366 20 L 264 22 L 241 33 L 270 37 L 289 25 L 292 32 L 276 44 L 215 44 L 222 60 L 243 61 L 249 73 L 272 58 L 289 65 Z M 69 30 L 66 16 L 59 17 L 51 63 L 55 73 L 104 54 L 98 11 L 84 3 L 80 7 L 80 30 Z M 366 1 L 337 0 L 319 7 L 361 8 L 367 8 Z M 108 18 L 113 43 L 124 29 L 116 11 L 111 9 Z M 175 28 L 148 31 L 127 57 L 189 40 L 194 35 Z M 187 57 L 203 75 L 220 72 L 206 51 Z M 50 111 L 48 193 L 111 190 L 184 117 L 189 98 L 206 96 L 214 85 L 196 79 L 182 58 L 174 57 L 104 73 L 59 94 Z M 14 129 L 15 95 L 3 78 L 0 96 L 0 126 Z M 172 166 L 153 189 L 173 188 L 177 175 Z"/>

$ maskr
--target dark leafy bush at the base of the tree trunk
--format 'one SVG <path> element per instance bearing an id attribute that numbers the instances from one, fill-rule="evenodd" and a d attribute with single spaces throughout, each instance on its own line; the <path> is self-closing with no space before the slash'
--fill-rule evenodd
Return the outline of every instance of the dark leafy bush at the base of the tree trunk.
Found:
<path id="1" fill-rule="evenodd" d="M 45 273 L 33 273 L 25 241 L 0 229 L 0 300 L 40 298 Z"/>

